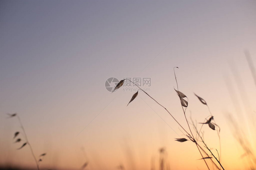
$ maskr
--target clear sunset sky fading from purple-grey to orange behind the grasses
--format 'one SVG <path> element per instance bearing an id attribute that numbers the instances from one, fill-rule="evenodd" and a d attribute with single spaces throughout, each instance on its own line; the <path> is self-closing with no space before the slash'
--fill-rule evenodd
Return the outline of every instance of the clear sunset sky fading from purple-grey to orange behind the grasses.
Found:
<path id="1" fill-rule="evenodd" d="M 255 16 L 253 0 L 1 1 L 0 164 L 35 167 L 29 147 L 13 144 L 21 127 L 6 113 L 16 112 L 36 157 L 47 152 L 43 168 L 88 161 L 93 170 L 158 169 L 165 147 L 170 169 L 205 169 L 195 144 L 174 141 L 185 136 L 151 98 L 139 92 L 127 106 L 135 87 L 105 88 L 110 77 L 150 78 L 147 92 L 188 130 L 174 90 L 179 67 L 187 117 L 198 123 L 210 115 L 196 93 L 221 127 L 225 169 L 247 169 L 227 114 L 255 148 L 256 91 L 244 54 L 256 65 Z M 202 130 L 219 150 L 216 131 Z"/>

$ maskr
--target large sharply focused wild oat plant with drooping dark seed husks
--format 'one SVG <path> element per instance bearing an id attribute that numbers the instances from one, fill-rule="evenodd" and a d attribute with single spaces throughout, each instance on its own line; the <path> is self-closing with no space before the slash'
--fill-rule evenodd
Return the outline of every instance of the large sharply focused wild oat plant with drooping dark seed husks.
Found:
<path id="1" fill-rule="evenodd" d="M 197 126 L 196 124 L 194 123 L 194 121 L 192 120 L 191 118 L 191 121 L 192 121 L 192 127 L 191 127 L 191 124 L 188 123 L 188 119 L 187 119 L 187 116 L 186 116 L 186 109 L 188 107 L 188 97 L 182 93 L 181 91 L 179 91 L 179 87 L 178 87 L 178 82 L 177 82 L 177 77 L 176 77 L 176 74 L 175 74 L 175 69 L 178 69 L 178 67 L 174 67 L 173 70 L 174 70 L 174 76 L 175 76 L 175 80 L 176 80 L 176 84 L 177 84 L 177 90 L 174 88 L 174 90 L 177 92 L 177 95 L 178 95 L 178 98 L 180 100 L 180 104 L 181 104 L 181 107 L 182 107 L 182 112 L 184 114 L 184 117 L 185 117 L 185 120 L 187 122 L 187 125 L 188 125 L 188 129 L 189 130 L 186 130 L 185 127 L 183 127 L 176 119 L 175 117 L 171 114 L 171 112 L 168 111 L 168 109 L 166 109 L 166 107 L 164 107 L 163 105 L 161 105 L 158 101 L 156 101 L 152 96 L 150 96 L 146 91 L 144 91 L 143 89 L 141 89 L 137 84 L 135 84 L 134 82 L 132 82 L 131 80 L 129 79 L 124 79 L 124 80 L 128 80 L 130 81 L 131 83 L 133 83 L 134 85 L 136 85 L 139 89 L 138 91 L 132 96 L 131 100 L 129 101 L 132 102 L 137 96 L 138 96 L 138 92 L 139 90 L 142 91 L 143 93 L 145 93 L 147 96 L 149 96 L 152 100 L 154 100 L 158 105 L 160 105 L 161 107 L 163 107 L 166 112 L 168 112 L 168 114 L 172 117 L 172 119 L 175 120 L 175 122 L 179 125 L 179 127 L 182 128 L 182 133 L 185 134 L 185 136 L 187 136 L 187 138 L 175 138 L 176 141 L 178 142 L 187 142 L 187 141 L 191 141 L 195 144 L 196 148 L 198 149 L 200 155 L 201 155 L 201 159 L 200 160 L 203 160 L 205 162 L 205 165 L 207 166 L 207 169 L 210 170 L 209 168 L 209 165 L 208 163 L 206 162 L 206 159 L 210 160 L 210 162 L 219 170 L 223 169 L 224 170 L 224 167 L 222 166 L 221 164 L 221 161 L 220 161 L 220 155 L 221 155 L 221 149 L 219 149 L 219 151 L 217 149 L 216 152 L 217 152 L 217 155 L 213 153 L 213 151 L 211 150 L 211 148 L 209 146 L 207 146 L 207 144 L 205 143 L 205 139 L 204 139 L 204 135 L 203 133 L 201 132 L 202 130 L 202 126 L 203 125 L 208 125 L 210 129 L 212 130 L 216 130 L 217 131 L 217 134 L 218 134 L 218 138 L 219 138 L 219 147 L 221 148 L 221 143 L 220 143 L 220 127 L 216 124 L 215 120 L 213 119 L 213 115 L 212 113 L 210 112 L 210 108 L 208 107 L 206 101 L 199 97 L 198 95 L 196 95 L 196 97 L 199 99 L 199 101 L 206 105 L 208 110 L 209 110 L 209 113 L 210 113 L 210 117 L 209 118 L 205 118 L 205 121 L 200 123 L 202 124 L 201 125 L 201 128 L 200 130 L 197 129 Z M 112 93 L 117 91 L 119 88 L 121 88 L 121 86 L 124 84 L 124 80 L 121 80 L 116 86 L 115 88 L 113 89 Z M 129 105 L 129 103 L 127 104 L 127 106 Z M 192 133 L 192 129 L 194 130 L 194 133 Z M 214 151 L 215 152 L 215 151 Z M 216 153 L 215 152 L 215 153 Z M 219 154 L 220 153 L 220 154 Z M 161 160 L 163 161 L 163 160 Z M 160 164 L 161 166 L 161 164 Z M 160 169 L 163 169 L 163 167 L 160 167 Z"/>

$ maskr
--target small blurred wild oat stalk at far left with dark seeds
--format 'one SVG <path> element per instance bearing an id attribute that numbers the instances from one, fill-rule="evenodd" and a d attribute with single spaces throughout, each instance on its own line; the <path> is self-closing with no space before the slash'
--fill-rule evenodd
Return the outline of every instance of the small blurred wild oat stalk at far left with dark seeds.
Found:
<path id="1" fill-rule="evenodd" d="M 40 162 L 43 161 L 43 158 L 45 157 L 46 153 L 40 154 L 40 155 L 38 156 L 38 159 L 37 159 L 36 156 L 35 156 L 35 154 L 34 154 L 34 151 L 33 151 L 33 149 L 32 149 L 32 146 L 31 146 L 31 144 L 29 143 L 29 140 L 28 140 L 26 131 L 25 131 L 25 129 L 24 129 L 24 126 L 23 126 L 22 123 L 21 123 L 21 118 L 19 117 L 19 115 L 18 115 L 17 113 L 13 113 L 13 114 L 7 113 L 7 115 L 9 116 L 8 118 L 13 118 L 13 117 L 17 117 L 17 118 L 18 118 L 18 121 L 19 121 L 19 123 L 20 123 L 20 125 L 21 125 L 21 129 L 22 129 L 22 132 L 23 132 L 23 133 L 21 133 L 21 132 L 19 132 L 19 131 L 16 131 L 16 132 L 14 133 L 14 137 L 13 137 L 13 140 L 15 140 L 14 143 L 23 143 L 23 144 L 21 145 L 21 147 L 19 147 L 17 150 L 20 150 L 20 149 L 22 149 L 23 147 L 25 147 L 26 145 L 28 145 L 29 148 L 30 148 L 31 154 L 32 154 L 32 156 L 33 156 L 33 158 L 34 158 L 34 160 L 35 160 L 37 169 L 40 170 L 39 164 L 40 164 Z"/>

